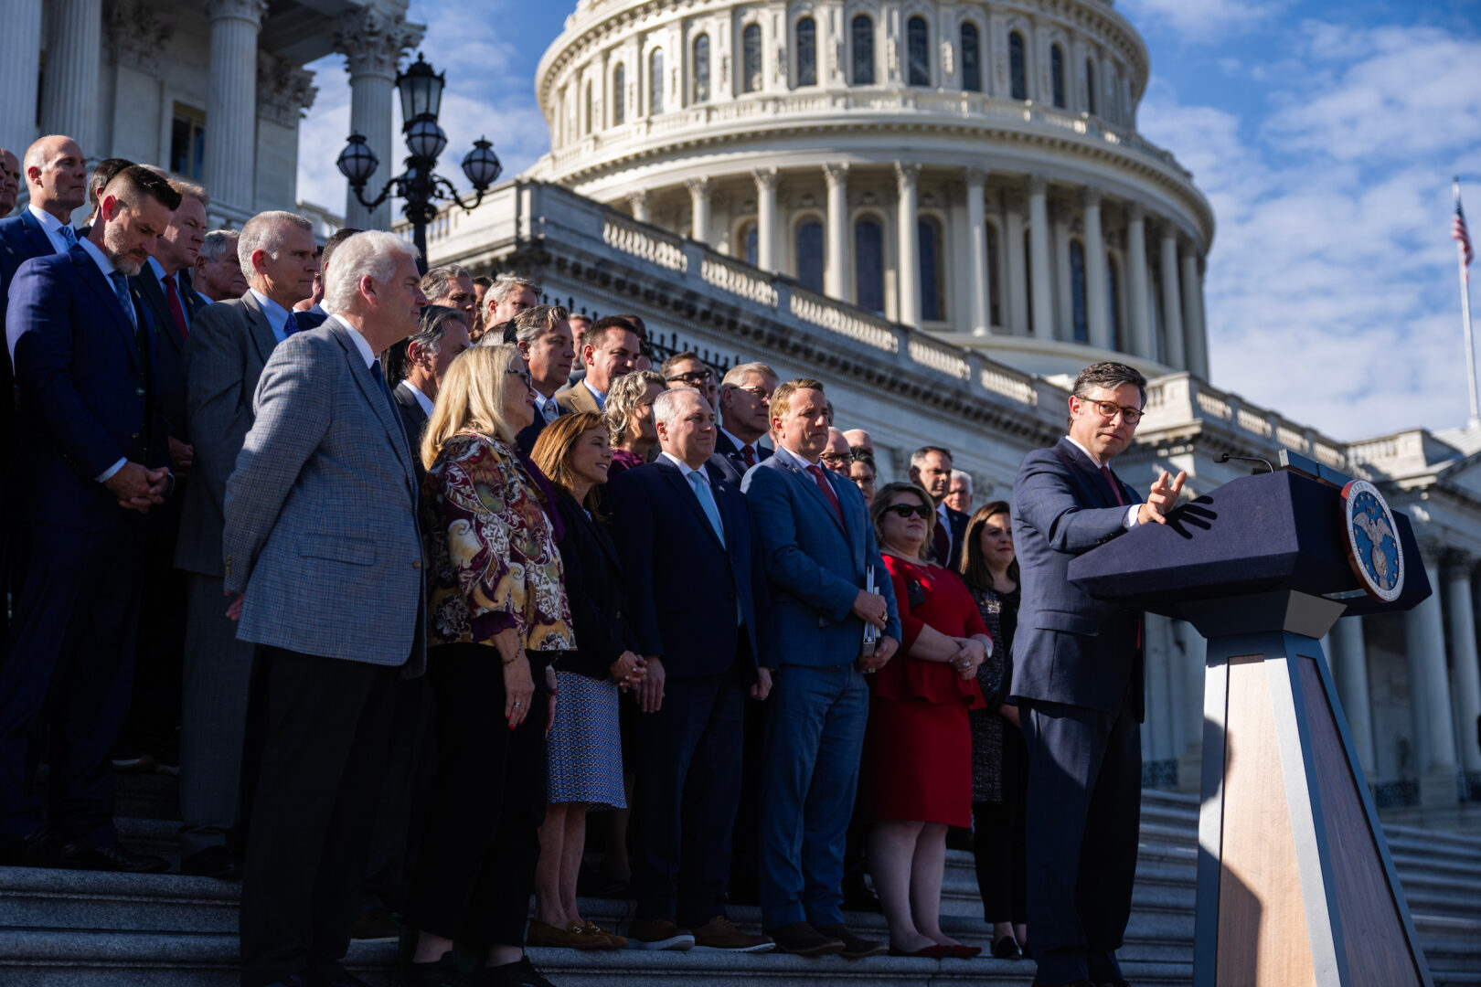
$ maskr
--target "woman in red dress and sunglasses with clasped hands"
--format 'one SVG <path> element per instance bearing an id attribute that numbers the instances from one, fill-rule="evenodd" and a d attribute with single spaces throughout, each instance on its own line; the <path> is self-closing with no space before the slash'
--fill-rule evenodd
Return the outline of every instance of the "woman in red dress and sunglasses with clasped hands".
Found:
<path id="1" fill-rule="evenodd" d="M 940 931 L 940 883 L 946 829 L 972 826 L 967 710 L 985 706 L 977 666 L 992 638 L 961 579 L 926 561 L 936 521 L 930 494 L 915 484 L 889 484 L 869 516 L 903 630 L 899 654 L 874 678 L 869 700 L 869 870 L 890 923 L 892 953 L 969 959 L 982 949 Z"/>

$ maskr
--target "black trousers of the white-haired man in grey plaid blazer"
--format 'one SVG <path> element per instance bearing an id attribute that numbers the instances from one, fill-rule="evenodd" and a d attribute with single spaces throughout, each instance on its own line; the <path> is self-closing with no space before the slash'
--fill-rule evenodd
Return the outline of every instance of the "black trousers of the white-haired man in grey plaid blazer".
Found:
<path id="1" fill-rule="evenodd" d="M 385 767 L 400 669 L 258 650 L 256 790 L 241 877 L 241 984 L 333 969 Z"/>

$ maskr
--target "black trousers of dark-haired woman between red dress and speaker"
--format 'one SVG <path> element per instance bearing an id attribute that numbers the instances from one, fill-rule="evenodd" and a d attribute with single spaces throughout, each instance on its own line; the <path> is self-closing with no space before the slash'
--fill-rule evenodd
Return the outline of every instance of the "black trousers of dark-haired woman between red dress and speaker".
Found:
<path id="1" fill-rule="evenodd" d="M 977 867 L 982 919 L 1028 922 L 1028 755 L 1023 734 L 1003 725 L 1001 802 L 972 804 L 972 857 Z"/>

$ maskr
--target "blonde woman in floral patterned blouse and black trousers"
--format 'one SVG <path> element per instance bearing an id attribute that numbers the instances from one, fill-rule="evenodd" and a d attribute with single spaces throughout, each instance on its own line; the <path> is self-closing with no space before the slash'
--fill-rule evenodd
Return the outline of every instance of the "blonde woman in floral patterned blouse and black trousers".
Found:
<path id="1" fill-rule="evenodd" d="M 512 345 L 474 346 L 447 368 L 422 434 L 429 559 L 427 675 L 437 700 L 437 780 L 412 882 L 412 962 L 397 983 L 548 987 L 524 956 L 545 811 L 549 661 L 576 648 L 548 496 L 515 448 L 535 417 Z"/>

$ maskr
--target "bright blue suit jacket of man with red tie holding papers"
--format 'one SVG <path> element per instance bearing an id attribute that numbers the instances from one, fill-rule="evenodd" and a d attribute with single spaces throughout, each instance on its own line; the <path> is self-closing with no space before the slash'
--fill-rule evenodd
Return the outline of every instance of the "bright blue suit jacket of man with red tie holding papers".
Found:
<path id="1" fill-rule="evenodd" d="M 782 664 L 828 667 L 859 657 L 863 621 L 853 616 L 853 601 L 869 567 L 889 605 L 884 633 L 900 639 L 895 589 L 863 494 L 832 471 L 823 476 L 838 494 L 843 525 L 818 482 L 780 456 L 746 471 L 740 487 L 761 536 Z"/>

